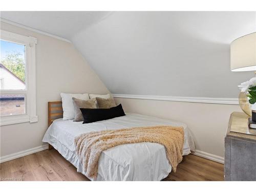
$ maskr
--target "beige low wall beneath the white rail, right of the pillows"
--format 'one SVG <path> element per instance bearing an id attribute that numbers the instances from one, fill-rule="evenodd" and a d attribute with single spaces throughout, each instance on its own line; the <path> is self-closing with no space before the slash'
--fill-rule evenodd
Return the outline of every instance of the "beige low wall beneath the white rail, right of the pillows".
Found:
<path id="1" fill-rule="evenodd" d="M 188 125 L 196 150 L 224 157 L 229 116 L 239 105 L 115 98 L 125 112 L 173 119 Z"/>

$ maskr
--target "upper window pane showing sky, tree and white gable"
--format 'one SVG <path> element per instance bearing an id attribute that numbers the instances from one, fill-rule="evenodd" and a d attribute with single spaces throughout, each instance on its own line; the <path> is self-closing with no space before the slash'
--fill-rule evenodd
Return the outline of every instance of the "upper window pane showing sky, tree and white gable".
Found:
<path id="1" fill-rule="evenodd" d="M 1 40 L 0 46 L 0 89 L 25 90 L 25 45 L 15 44 L 14 42 Z"/>

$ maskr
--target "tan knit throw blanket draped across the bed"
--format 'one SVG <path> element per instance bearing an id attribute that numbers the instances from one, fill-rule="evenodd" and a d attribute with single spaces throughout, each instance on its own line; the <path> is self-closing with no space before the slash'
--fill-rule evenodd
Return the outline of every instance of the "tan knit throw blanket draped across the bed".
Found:
<path id="1" fill-rule="evenodd" d="M 76 153 L 88 177 L 96 178 L 101 152 L 109 148 L 127 144 L 152 142 L 165 146 L 169 164 L 176 172 L 182 161 L 184 130 L 183 127 L 149 126 L 120 130 L 106 130 L 82 134 L 75 138 Z"/>

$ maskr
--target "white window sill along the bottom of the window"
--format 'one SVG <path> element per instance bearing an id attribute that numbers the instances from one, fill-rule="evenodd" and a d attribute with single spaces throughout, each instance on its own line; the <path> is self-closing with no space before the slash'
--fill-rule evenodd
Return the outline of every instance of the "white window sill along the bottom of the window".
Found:
<path id="1" fill-rule="evenodd" d="M 29 115 L 17 115 L 0 118 L 1 126 L 25 122 L 37 122 L 37 116 L 30 117 Z"/>

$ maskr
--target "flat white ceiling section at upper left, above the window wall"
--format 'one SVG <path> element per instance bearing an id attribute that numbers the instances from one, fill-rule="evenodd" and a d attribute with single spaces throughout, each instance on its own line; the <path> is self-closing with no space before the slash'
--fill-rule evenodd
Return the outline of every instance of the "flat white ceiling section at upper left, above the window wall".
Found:
<path id="1" fill-rule="evenodd" d="M 1 11 L 1 18 L 70 40 L 78 31 L 109 14 L 108 11 Z"/>

